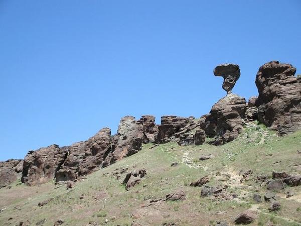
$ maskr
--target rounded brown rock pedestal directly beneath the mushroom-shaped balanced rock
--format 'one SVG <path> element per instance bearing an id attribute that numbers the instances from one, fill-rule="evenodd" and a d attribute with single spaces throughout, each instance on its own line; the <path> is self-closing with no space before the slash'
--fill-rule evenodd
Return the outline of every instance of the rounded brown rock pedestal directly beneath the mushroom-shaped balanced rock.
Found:
<path id="1" fill-rule="evenodd" d="M 233 141 L 243 130 L 246 100 L 230 93 L 220 99 L 210 110 L 205 120 L 205 132 L 209 137 L 216 137 L 214 145 Z"/>

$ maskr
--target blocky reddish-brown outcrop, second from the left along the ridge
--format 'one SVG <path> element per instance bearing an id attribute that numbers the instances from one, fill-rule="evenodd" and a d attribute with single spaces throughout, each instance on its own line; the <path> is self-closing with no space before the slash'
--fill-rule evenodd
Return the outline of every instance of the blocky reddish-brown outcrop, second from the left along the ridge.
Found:
<path id="1" fill-rule="evenodd" d="M 30 151 L 24 159 L 22 182 L 36 185 L 53 180 L 67 154 L 67 150 L 60 149 L 58 145 Z"/>

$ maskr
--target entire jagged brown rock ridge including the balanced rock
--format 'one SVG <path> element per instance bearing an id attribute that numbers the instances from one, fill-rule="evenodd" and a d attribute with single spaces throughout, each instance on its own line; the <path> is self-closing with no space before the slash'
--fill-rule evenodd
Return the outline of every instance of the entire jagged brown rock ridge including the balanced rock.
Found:
<path id="1" fill-rule="evenodd" d="M 87 141 L 68 147 L 51 145 L 30 151 L 24 160 L 0 162 L 0 187 L 19 178 L 28 185 L 55 179 L 74 181 L 91 172 L 113 164 L 141 150 L 142 144 L 162 144 L 170 141 L 179 145 L 202 145 L 205 137 L 210 144 L 223 145 L 238 137 L 247 121 L 259 120 L 279 134 L 301 129 L 301 78 L 290 64 L 271 61 L 262 65 L 256 75 L 258 97 L 245 98 L 232 93 L 240 77 L 236 64 L 221 64 L 214 75 L 224 78 L 227 95 L 212 106 L 200 119 L 178 116 L 161 117 L 156 125 L 154 116 L 140 120 L 126 116 L 120 120 L 117 134 L 111 136 L 103 128 Z"/>

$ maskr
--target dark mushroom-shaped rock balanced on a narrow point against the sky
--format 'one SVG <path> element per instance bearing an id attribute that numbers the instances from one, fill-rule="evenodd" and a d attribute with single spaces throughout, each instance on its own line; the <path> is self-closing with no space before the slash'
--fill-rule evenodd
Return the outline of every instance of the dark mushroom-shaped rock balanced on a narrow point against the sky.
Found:
<path id="1" fill-rule="evenodd" d="M 229 93 L 232 91 L 236 81 L 240 76 L 240 69 L 237 64 L 220 64 L 213 71 L 215 76 L 224 78 L 223 89 Z"/>

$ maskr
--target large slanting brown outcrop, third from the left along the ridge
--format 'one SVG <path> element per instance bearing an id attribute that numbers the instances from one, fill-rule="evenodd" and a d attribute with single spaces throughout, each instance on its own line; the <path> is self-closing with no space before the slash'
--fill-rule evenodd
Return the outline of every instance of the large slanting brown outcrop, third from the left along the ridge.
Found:
<path id="1" fill-rule="evenodd" d="M 75 180 L 100 167 L 111 151 L 111 130 L 101 129 L 84 142 L 66 147 L 68 157 L 56 172 L 56 181 Z"/>

